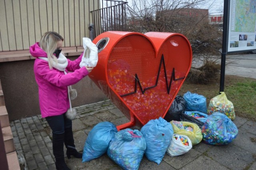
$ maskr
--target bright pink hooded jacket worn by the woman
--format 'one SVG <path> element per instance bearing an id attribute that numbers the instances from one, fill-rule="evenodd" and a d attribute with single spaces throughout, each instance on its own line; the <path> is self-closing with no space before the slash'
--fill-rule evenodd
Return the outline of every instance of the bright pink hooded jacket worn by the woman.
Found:
<path id="1" fill-rule="evenodd" d="M 79 63 L 82 54 L 76 60 L 68 59 L 66 72 L 55 68 L 50 69 L 48 62 L 38 57 L 47 57 L 46 52 L 40 48 L 38 43 L 30 46 L 30 53 L 36 57 L 34 62 L 34 73 L 38 84 L 39 105 L 42 117 L 62 115 L 69 108 L 68 86 L 80 81 L 89 74 L 86 67 L 80 68 Z"/>

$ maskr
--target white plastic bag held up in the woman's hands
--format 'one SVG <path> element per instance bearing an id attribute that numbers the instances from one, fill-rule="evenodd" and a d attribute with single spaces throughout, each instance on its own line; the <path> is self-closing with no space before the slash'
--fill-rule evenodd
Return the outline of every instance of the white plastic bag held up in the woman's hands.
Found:
<path id="1" fill-rule="evenodd" d="M 98 48 L 90 38 L 83 38 L 84 54 L 79 66 L 95 67 L 98 62 Z"/>

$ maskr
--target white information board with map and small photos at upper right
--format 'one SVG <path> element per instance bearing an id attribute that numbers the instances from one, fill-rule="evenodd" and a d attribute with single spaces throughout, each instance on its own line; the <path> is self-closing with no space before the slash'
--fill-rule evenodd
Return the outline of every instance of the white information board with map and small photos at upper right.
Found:
<path id="1" fill-rule="evenodd" d="M 256 0 L 230 0 L 228 52 L 256 49 Z"/>

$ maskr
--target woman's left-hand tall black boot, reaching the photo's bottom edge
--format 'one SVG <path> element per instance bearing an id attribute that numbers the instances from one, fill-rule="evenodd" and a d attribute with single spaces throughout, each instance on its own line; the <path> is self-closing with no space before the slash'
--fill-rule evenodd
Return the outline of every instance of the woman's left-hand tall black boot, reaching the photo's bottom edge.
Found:
<path id="1" fill-rule="evenodd" d="M 64 159 L 64 136 L 65 134 L 52 134 L 52 150 L 55 156 L 57 170 L 70 170 Z"/>

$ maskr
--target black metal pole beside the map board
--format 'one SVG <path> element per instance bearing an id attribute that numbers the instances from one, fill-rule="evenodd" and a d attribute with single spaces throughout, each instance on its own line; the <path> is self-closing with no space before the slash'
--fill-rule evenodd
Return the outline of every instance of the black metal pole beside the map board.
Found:
<path id="1" fill-rule="evenodd" d="M 221 53 L 221 65 L 220 65 L 220 92 L 224 91 L 225 64 L 226 64 L 227 41 L 228 41 L 228 13 L 229 13 L 229 0 L 224 0 L 222 53 Z"/>

